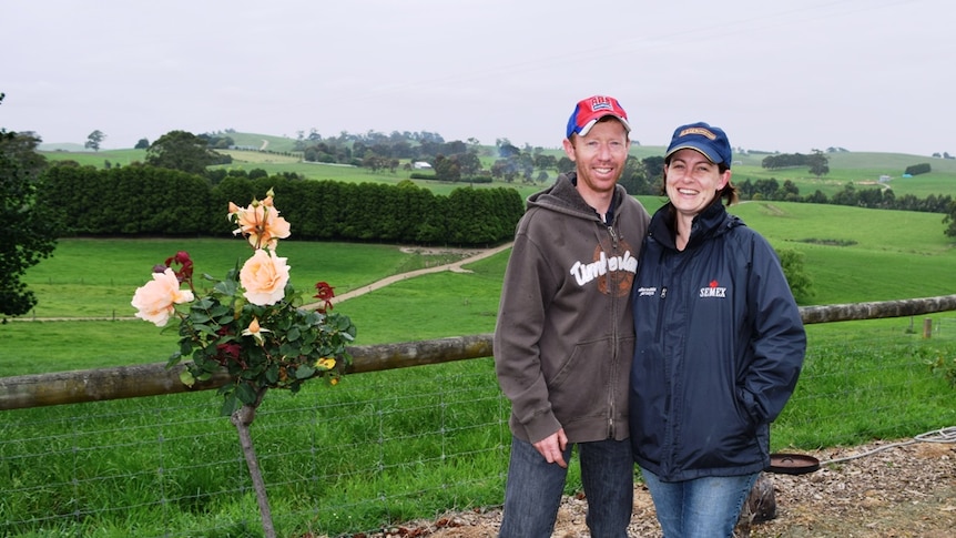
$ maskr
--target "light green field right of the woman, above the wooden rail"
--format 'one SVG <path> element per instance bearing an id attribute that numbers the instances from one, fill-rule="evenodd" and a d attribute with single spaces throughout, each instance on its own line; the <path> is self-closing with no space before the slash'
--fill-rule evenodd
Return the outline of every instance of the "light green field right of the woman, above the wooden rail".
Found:
<path id="1" fill-rule="evenodd" d="M 942 215 L 785 202 L 747 202 L 731 211 L 775 248 L 804 253 L 812 304 L 956 293 L 956 248 L 943 234 Z"/>

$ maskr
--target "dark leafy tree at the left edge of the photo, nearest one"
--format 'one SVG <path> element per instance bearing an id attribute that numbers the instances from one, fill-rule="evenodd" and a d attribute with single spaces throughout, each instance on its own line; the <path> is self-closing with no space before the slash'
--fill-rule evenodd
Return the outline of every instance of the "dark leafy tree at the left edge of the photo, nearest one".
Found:
<path id="1" fill-rule="evenodd" d="M 57 245 L 55 220 L 35 204 L 37 177 L 45 165 L 34 151 L 39 143 L 30 133 L 0 129 L 0 222 L 6 237 L 0 242 L 0 316 L 4 322 L 6 316 L 21 316 L 37 305 L 20 277 Z"/>

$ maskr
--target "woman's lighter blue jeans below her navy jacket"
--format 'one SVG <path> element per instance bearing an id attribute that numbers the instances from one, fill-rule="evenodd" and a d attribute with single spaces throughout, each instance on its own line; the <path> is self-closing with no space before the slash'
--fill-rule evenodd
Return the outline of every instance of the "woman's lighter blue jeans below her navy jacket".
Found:
<path id="1" fill-rule="evenodd" d="M 654 500 L 664 538 L 730 538 L 760 475 L 708 476 L 665 483 L 643 467 L 641 473 Z"/>

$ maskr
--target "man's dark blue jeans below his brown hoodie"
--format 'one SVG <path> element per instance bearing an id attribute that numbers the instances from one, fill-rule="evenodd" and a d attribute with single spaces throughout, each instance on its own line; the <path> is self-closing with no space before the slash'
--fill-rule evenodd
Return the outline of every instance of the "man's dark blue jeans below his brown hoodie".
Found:
<path id="1" fill-rule="evenodd" d="M 634 498 L 634 459 L 629 440 L 578 443 L 586 522 L 593 538 L 627 538 Z M 565 449 L 570 461 L 572 444 Z M 500 538 L 550 538 L 568 469 L 549 464 L 535 446 L 511 438 Z"/>

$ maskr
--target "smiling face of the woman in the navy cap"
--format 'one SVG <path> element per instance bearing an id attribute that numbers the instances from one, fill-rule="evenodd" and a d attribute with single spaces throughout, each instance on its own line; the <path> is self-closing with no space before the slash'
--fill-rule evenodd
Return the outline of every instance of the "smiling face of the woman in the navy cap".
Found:
<path id="1" fill-rule="evenodd" d="M 730 181 L 731 172 L 695 150 L 679 150 L 664 165 L 668 197 L 679 213 L 694 216 L 708 207 Z"/>

